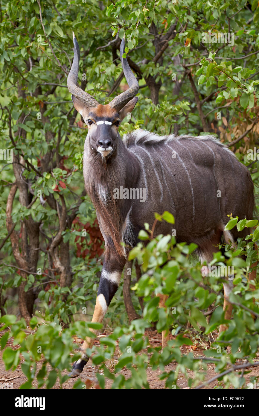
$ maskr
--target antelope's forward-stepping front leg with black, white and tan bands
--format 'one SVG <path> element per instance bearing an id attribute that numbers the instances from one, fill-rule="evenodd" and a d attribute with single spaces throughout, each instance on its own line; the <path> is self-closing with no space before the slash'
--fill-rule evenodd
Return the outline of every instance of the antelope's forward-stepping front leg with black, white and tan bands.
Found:
<path id="1" fill-rule="evenodd" d="M 111 300 L 118 289 L 121 273 L 125 263 L 126 258 L 116 258 L 115 255 L 111 255 L 111 253 L 106 250 L 94 308 L 94 315 L 91 322 L 101 323 L 104 319 Z M 91 329 L 91 332 L 96 335 L 97 329 Z M 94 345 L 94 340 L 95 338 L 89 337 L 86 337 L 84 340 L 84 344 L 81 348 L 82 357 L 73 364 L 72 371 L 69 373 L 70 377 L 77 377 L 83 371 L 84 366 L 90 358 L 85 353 L 86 349 L 91 348 Z"/>

